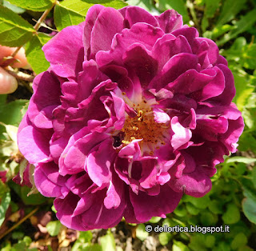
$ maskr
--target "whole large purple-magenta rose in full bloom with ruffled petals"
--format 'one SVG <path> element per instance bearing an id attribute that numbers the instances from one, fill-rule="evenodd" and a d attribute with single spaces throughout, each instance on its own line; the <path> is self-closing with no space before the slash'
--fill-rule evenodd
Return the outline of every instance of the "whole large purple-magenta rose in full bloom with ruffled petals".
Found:
<path id="1" fill-rule="evenodd" d="M 95 5 L 43 51 L 18 145 L 63 225 L 145 222 L 210 191 L 244 127 L 213 41 L 174 10 Z"/>

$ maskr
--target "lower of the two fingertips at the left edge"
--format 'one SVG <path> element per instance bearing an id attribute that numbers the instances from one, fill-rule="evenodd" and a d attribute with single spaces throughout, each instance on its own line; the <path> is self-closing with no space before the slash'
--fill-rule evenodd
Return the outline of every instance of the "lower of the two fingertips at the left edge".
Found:
<path id="1" fill-rule="evenodd" d="M 18 82 L 14 76 L 8 74 L 0 67 L 0 94 L 11 94 L 18 88 Z"/>

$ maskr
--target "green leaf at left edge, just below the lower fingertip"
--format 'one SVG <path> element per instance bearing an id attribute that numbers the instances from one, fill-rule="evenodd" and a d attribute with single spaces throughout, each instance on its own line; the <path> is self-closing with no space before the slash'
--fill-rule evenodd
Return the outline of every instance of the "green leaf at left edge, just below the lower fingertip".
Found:
<path id="1" fill-rule="evenodd" d="M 0 106 L 0 121 L 6 125 L 16 125 L 22 121 L 22 108 L 29 102 L 26 99 L 18 99 L 5 106 Z"/>

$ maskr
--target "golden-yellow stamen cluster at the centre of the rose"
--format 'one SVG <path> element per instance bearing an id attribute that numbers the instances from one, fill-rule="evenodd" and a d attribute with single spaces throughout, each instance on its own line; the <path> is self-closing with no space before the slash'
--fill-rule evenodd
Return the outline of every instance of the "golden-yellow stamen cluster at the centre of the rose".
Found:
<path id="1" fill-rule="evenodd" d="M 150 155 L 153 155 L 154 149 L 159 149 L 161 145 L 166 144 L 170 122 L 169 125 L 155 122 L 151 107 L 154 104 L 156 104 L 155 100 L 146 101 L 145 99 L 138 104 L 129 104 L 134 109 L 134 116 L 126 114 L 126 122 L 121 129 L 122 144 L 128 145 L 135 139 L 142 139 L 138 142 L 142 153 L 148 152 Z"/>

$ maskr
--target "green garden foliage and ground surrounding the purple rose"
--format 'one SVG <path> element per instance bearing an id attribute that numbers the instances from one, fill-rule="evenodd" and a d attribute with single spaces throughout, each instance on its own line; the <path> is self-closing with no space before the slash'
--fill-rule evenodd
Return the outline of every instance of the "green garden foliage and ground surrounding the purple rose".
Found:
<path id="1" fill-rule="evenodd" d="M 238 152 L 218 165 L 205 197 L 184 196 L 166 219 L 146 225 L 230 225 L 230 233 L 146 233 L 145 225 L 122 221 L 113 229 L 66 229 L 55 217 L 53 200 L 16 185 L 22 156 L 16 133 L 32 94 L 31 80 L 47 70 L 41 50 L 59 30 L 83 22 L 95 3 L 120 9 L 142 6 L 153 14 L 177 10 L 200 36 L 213 39 L 234 74 L 234 102 L 246 128 Z M 254 250 L 256 249 L 256 1 L 255 0 L 0 0 L 0 45 L 24 46 L 29 70 L 2 66 L 18 78 L 14 94 L 0 95 L 0 241 L 1 250 Z M 42 22 L 42 23 L 41 23 Z M 9 61 L 8 61 L 9 60 Z M 1 83 L 0 83 L 1 84 Z"/>

